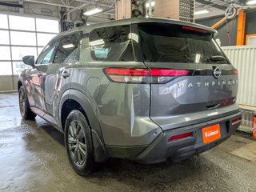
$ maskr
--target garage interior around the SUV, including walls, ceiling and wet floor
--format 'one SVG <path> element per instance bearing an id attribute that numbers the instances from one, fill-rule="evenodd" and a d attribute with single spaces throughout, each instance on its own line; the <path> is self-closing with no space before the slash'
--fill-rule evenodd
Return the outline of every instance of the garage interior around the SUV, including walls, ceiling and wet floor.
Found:
<path id="1" fill-rule="evenodd" d="M 63 134 L 42 118 L 29 121 L 20 115 L 18 77 L 28 67 L 22 57 L 37 57 L 60 32 L 133 17 L 177 19 L 218 30 L 216 41 L 239 71 L 242 123 L 226 142 L 182 162 L 110 159 L 81 177 L 66 158 Z M 0 190 L 256 191 L 255 61 L 254 0 L 0 1 Z"/>

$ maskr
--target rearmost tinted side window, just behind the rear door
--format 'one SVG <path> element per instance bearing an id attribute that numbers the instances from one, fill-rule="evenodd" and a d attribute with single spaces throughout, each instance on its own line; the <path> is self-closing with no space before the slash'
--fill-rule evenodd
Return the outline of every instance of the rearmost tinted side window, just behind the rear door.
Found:
<path id="1" fill-rule="evenodd" d="M 108 26 L 90 32 L 90 54 L 96 61 L 134 61 L 130 26 Z"/>

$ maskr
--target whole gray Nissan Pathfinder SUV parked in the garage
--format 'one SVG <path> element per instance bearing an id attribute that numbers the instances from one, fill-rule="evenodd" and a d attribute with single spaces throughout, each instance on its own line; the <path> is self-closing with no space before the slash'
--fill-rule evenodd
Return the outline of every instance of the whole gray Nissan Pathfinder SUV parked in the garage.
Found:
<path id="1" fill-rule="evenodd" d="M 131 18 L 52 39 L 18 79 L 22 118 L 65 135 L 78 174 L 126 158 L 174 162 L 218 146 L 238 129 L 238 70 L 189 22 Z"/>

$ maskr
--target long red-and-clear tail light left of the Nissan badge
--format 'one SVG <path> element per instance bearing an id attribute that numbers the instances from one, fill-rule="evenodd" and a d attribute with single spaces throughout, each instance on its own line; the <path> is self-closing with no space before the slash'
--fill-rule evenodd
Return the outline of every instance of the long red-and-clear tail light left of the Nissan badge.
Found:
<path id="1" fill-rule="evenodd" d="M 165 83 L 178 76 L 185 76 L 190 70 L 106 68 L 104 73 L 111 82 Z"/>

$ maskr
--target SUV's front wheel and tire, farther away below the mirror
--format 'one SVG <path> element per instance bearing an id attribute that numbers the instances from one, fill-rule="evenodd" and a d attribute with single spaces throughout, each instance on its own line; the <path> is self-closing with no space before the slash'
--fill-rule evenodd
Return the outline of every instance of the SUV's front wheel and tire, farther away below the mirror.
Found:
<path id="1" fill-rule="evenodd" d="M 30 110 L 30 104 L 26 98 L 23 86 L 18 90 L 18 106 L 23 119 L 34 119 L 36 114 Z"/>

